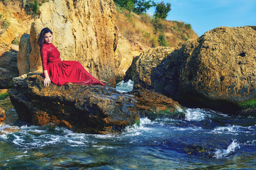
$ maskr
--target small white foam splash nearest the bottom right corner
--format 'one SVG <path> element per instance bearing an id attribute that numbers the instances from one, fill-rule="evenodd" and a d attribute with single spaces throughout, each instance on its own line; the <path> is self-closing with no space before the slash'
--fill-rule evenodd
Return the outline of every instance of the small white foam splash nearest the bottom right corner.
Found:
<path id="1" fill-rule="evenodd" d="M 213 157 L 221 158 L 221 157 L 227 157 L 228 155 L 235 152 L 235 149 L 240 149 L 240 145 L 236 140 L 233 140 L 230 145 L 228 145 L 227 149 L 216 149 L 216 152 L 214 152 Z"/>

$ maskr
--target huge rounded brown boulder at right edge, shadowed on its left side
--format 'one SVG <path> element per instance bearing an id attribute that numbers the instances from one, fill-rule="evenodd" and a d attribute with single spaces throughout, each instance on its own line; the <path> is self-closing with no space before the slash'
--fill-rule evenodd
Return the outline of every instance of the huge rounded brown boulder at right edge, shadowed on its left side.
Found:
<path id="1" fill-rule="evenodd" d="M 254 112 L 255 42 L 255 27 L 209 30 L 166 57 L 152 72 L 152 86 L 190 106 Z"/>

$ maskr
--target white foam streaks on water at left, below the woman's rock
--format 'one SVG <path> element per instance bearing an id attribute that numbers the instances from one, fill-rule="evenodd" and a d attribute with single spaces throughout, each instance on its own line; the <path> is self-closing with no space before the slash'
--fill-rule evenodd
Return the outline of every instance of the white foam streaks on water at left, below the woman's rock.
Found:
<path id="1" fill-rule="evenodd" d="M 75 133 L 66 128 L 55 127 L 50 132 L 47 127 L 24 125 L 20 131 L 9 135 L 0 135 L 1 138 L 13 142 L 24 148 L 43 148 L 59 143 L 72 147 L 87 146 L 87 134 Z"/>

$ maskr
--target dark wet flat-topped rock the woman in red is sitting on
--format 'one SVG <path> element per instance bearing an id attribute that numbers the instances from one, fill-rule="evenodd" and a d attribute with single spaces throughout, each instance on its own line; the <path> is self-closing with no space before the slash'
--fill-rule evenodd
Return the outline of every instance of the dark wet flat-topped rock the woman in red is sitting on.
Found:
<path id="1" fill-rule="evenodd" d="M 24 78 L 24 77 L 23 77 Z M 139 121 L 135 100 L 110 86 L 65 84 L 43 86 L 43 77 L 28 74 L 9 89 L 21 120 L 33 125 L 55 123 L 75 132 L 116 133 Z"/>

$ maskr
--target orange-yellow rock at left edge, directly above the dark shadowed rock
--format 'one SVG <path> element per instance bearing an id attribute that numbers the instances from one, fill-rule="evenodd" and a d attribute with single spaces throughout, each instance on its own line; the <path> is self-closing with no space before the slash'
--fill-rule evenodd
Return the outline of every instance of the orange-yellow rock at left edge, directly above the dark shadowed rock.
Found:
<path id="1" fill-rule="evenodd" d="M 11 42 L 15 39 L 13 28 L 0 30 L 0 56 L 11 50 Z"/>

